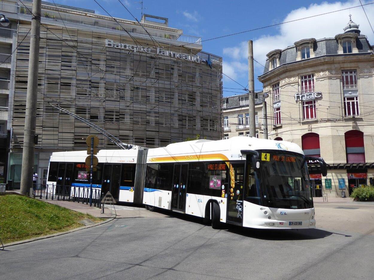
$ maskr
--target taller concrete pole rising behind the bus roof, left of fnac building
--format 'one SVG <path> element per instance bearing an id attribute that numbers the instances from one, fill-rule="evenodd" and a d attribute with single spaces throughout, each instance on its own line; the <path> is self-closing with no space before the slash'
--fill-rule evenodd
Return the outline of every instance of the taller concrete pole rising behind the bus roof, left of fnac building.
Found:
<path id="1" fill-rule="evenodd" d="M 256 137 L 253 41 L 248 41 L 249 136 Z"/>

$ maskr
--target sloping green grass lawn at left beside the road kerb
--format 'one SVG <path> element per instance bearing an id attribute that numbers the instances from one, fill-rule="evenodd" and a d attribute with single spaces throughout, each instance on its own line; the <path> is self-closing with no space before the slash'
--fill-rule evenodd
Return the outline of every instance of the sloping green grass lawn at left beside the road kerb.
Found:
<path id="1" fill-rule="evenodd" d="M 104 220 L 27 196 L 0 196 L 0 238 L 4 244 L 82 227 L 79 221 L 84 219 Z"/>

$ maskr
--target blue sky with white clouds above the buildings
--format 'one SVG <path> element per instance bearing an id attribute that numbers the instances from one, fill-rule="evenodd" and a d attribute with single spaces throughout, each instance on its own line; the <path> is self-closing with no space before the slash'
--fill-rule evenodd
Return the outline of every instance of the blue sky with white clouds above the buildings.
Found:
<path id="1" fill-rule="evenodd" d="M 52 0 L 48 0 L 52 2 Z M 118 0 L 97 0 L 112 16 L 132 20 Z M 134 0 L 121 0 L 123 4 L 140 20 L 140 4 Z M 56 3 L 95 10 L 95 13 L 107 15 L 93 0 L 55 0 Z M 363 4 L 371 1 L 361 0 Z M 188 4 L 186 4 L 188 3 Z M 222 0 L 144 0 L 144 13 L 169 18 L 169 26 L 183 29 L 184 34 L 202 37 L 202 40 L 264 27 L 293 19 L 318 15 L 353 6 L 359 6 L 359 0 L 351 1 L 222 1 Z M 374 25 L 374 4 L 364 6 Z M 205 52 L 223 57 L 223 72 L 245 87 L 248 84 L 247 41 L 254 41 L 254 58 L 264 65 L 266 53 L 274 49 L 291 46 L 295 41 L 304 38 L 334 37 L 342 33 L 343 28 L 352 20 L 360 24 L 361 34 L 368 36 L 374 44 L 374 34 L 368 24 L 362 7 L 351 8 L 341 12 L 304 19 L 294 23 L 246 32 L 211 41 L 203 42 Z M 373 26 L 374 27 L 374 26 Z M 257 75 L 263 72 L 263 66 L 255 62 L 255 90 L 261 90 L 262 84 Z M 224 77 L 224 96 L 240 94 L 241 88 Z M 234 92 L 231 92 L 234 91 Z"/>

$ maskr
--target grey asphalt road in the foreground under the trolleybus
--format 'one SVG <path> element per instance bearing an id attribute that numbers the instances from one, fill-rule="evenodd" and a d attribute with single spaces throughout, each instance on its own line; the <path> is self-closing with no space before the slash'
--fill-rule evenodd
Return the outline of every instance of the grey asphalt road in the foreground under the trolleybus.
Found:
<path id="1" fill-rule="evenodd" d="M 315 206 L 320 228 L 294 231 L 214 230 L 144 210 L 8 247 L 0 279 L 373 279 L 374 203 Z"/>

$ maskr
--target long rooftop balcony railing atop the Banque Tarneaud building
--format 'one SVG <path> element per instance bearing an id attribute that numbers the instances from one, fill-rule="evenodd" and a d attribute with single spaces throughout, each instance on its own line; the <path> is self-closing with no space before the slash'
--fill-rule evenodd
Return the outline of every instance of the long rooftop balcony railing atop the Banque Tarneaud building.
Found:
<path id="1" fill-rule="evenodd" d="M 31 16 L 31 6 L 26 9 L 20 6 L 18 13 Z M 113 29 L 117 31 L 123 31 L 125 29 L 129 33 L 141 34 L 148 36 L 148 33 L 152 37 L 163 38 L 166 40 L 173 40 L 183 43 L 191 43 L 201 45 L 201 38 L 191 35 L 185 35 L 177 33 L 178 29 L 160 27 L 157 25 L 141 24 L 144 28 L 147 28 L 147 32 L 137 23 L 133 21 L 126 21 L 124 19 L 116 18 L 113 21 L 112 18 L 102 15 L 96 15 L 91 13 L 74 11 L 71 10 L 42 5 L 42 18 L 53 19 L 55 21 L 71 22 L 74 24 L 89 25 L 94 27 Z"/>

